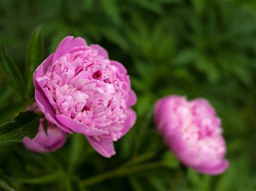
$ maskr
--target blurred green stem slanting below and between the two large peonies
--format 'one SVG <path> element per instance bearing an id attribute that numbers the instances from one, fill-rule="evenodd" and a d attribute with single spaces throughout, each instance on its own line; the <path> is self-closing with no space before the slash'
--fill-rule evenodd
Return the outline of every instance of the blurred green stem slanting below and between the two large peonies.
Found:
<path id="1" fill-rule="evenodd" d="M 110 171 L 104 174 L 99 174 L 92 178 L 85 179 L 81 181 L 81 185 L 83 187 L 86 187 L 110 178 L 121 177 L 121 176 L 129 175 L 132 173 L 142 172 L 142 171 L 146 171 L 149 169 L 154 169 L 162 166 L 165 166 L 165 161 L 151 162 L 148 164 L 132 166 L 132 167 L 120 167 L 113 171 Z"/>

